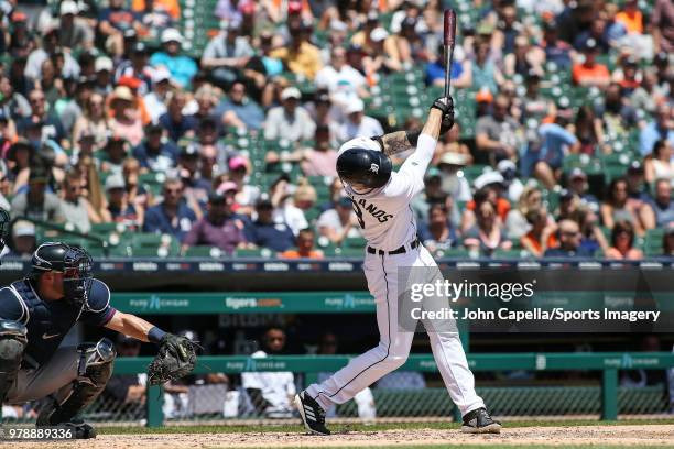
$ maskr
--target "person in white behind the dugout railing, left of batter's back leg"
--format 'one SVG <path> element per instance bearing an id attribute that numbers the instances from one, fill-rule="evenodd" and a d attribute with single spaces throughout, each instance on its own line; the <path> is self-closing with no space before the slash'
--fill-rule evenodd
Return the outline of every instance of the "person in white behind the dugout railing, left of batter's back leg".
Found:
<path id="1" fill-rule="evenodd" d="M 279 355 L 284 352 L 285 331 L 271 327 L 260 339 L 260 350 L 251 354 L 253 359 Z M 289 418 L 293 415 L 295 379 L 291 372 L 249 372 L 241 374 L 241 384 L 250 396 L 256 412 L 268 418 Z"/>

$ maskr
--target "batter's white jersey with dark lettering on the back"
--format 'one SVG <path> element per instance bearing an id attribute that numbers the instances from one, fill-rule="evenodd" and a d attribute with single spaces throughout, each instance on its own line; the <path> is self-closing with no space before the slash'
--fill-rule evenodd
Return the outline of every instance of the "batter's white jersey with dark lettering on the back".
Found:
<path id="1" fill-rule="evenodd" d="M 347 195 L 354 201 L 362 236 L 371 247 L 393 251 L 416 238 L 416 219 L 410 201 L 424 189 L 424 174 L 436 144 L 435 139 L 422 134 L 414 153 L 405 160 L 400 171 L 391 173 L 391 179 L 381 188 L 363 195 L 345 185 Z M 356 138 L 341 145 L 338 154 L 350 149 L 381 151 L 377 141 Z"/>

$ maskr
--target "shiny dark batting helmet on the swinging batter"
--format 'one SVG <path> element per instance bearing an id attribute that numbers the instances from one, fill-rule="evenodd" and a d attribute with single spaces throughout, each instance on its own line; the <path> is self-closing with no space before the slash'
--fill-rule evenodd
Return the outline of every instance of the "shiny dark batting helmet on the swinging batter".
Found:
<path id="1" fill-rule="evenodd" d="M 367 188 L 383 187 L 391 177 L 393 164 L 381 151 L 349 149 L 337 157 L 337 174 L 348 184 Z"/>

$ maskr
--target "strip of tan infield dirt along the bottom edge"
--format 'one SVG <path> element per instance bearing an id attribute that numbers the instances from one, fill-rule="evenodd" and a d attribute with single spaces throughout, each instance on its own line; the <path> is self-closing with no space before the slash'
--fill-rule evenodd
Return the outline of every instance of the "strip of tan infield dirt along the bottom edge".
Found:
<path id="1" fill-rule="evenodd" d="M 48 447 L 50 449 L 394 448 L 434 445 L 673 447 L 674 425 L 514 427 L 503 429 L 501 435 L 486 436 L 438 429 L 346 431 L 329 437 L 294 432 L 100 435 L 84 445 L 81 441 L 50 442 Z M 45 447 L 47 446 L 44 442 L 12 443 L 12 448 L 18 449 Z"/>

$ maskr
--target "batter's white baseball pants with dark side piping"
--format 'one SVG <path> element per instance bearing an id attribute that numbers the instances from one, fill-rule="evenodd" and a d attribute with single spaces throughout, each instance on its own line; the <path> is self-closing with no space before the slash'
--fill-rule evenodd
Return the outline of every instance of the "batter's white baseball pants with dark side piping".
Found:
<path id="1" fill-rule="evenodd" d="M 324 409 L 344 404 L 362 388 L 377 382 L 407 360 L 414 333 L 400 331 L 398 326 L 398 270 L 401 266 L 436 267 L 431 253 L 420 243 L 415 249 L 406 244 L 402 254 L 367 253 L 363 264 L 368 288 L 377 305 L 380 341 L 376 348 L 352 359 L 345 368 L 320 384 L 312 384 L 306 392 Z M 461 412 L 485 407 L 475 391 L 475 379 L 458 332 L 428 332 L 431 349 L 449 397 Z"/>

